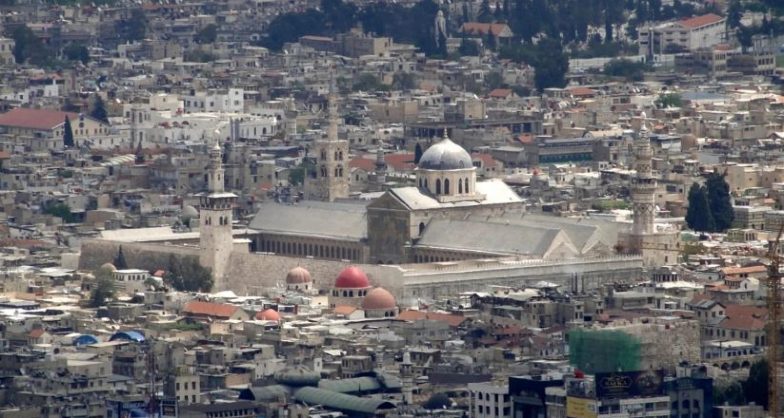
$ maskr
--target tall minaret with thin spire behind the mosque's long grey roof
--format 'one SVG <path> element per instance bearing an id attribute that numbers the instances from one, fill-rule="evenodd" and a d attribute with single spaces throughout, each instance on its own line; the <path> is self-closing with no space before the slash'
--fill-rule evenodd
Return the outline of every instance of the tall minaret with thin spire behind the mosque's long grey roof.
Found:
<path id="1" fill-rule="evenodd" d="M 305 178 L 305 199 L 332 202 L 349 196 L 348 141 L 338 139 L 335 77 L 329 83 L 326 139 L 315 142 L 316 168 Z"/>

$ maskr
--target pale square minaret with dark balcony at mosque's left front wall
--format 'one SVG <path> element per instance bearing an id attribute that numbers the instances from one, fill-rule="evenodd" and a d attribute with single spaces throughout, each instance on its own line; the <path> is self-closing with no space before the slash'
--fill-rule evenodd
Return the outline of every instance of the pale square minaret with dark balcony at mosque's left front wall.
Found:
<path id="1" fill-rule="evenodd" d="M 216 132 L 215 145 L 209 151 L 207 192 L 201 194 L 199 244 L 201 265 L 212 270 L 216 290 L 224 290 L 227 289 L 226 271 L 234 247 L 231 224 L 237 195 L 227 193 L 223 186 L 223 150 L 218 135 Z"/>

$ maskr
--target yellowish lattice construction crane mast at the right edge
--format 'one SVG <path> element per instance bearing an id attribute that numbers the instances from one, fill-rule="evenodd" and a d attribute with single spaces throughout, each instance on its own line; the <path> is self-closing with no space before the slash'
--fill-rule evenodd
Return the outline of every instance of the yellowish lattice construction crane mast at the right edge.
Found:
<path id="1" fill-rule="evenodd" d="M 782 319 L 782 272 L 779 256 L 779 244 L 784 232 L 784 225 L 779 228 L 776 240 L 768 247 L 768 413 L 771 418 L 778 418 L 781 414 L 779 405 L 779 391 L 781 388 L 781 319 Z"/>

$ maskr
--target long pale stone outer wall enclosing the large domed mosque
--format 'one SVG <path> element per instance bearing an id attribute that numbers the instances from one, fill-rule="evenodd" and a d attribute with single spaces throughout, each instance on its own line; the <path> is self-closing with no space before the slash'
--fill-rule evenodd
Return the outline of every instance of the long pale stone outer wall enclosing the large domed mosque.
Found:
<path id="1" fill-rule="evenodd" d="M 118 243 L 107 240 L 84 240 L 79 268 L 89 270 L 111 262 L 119 247 L 130 268 L 165 269 L 169 254 L 198 260 L 198 247 L 161 243 Z M 297 266 L 306 268 L 314 288 L 329 290 L 339 272 L 350 263 L 285 257 L 274 254 L 231 253 L 227 267 L 227 289 L 240 295 L 260 295 L 264 290 L 285 286 L 286 274 Z M 546 280 L 564 290 L 592 290 L 605 283 L 626 282 L 642 277 L 642 258 L 615 256 L 570 260 L 517 260 L 492 258 L 448 261 L 416 265 L 357 264 L 372 286 L 381 286 L 402 304 L 435 300 L 460 292 L 487 291 L 488 286 L 531 286 Z M 279 285 L 279 286 L 278 286 Z"/>

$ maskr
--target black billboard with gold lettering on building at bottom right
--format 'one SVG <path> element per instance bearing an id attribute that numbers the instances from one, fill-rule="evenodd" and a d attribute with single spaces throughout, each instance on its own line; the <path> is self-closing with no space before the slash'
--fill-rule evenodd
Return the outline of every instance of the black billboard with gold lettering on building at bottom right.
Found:
<path id="1" fill-rule="evenodd" d="M 663 370 L 639 372 L 596 373 L 597 398 L 632 398 L 662 395 Z"/>

